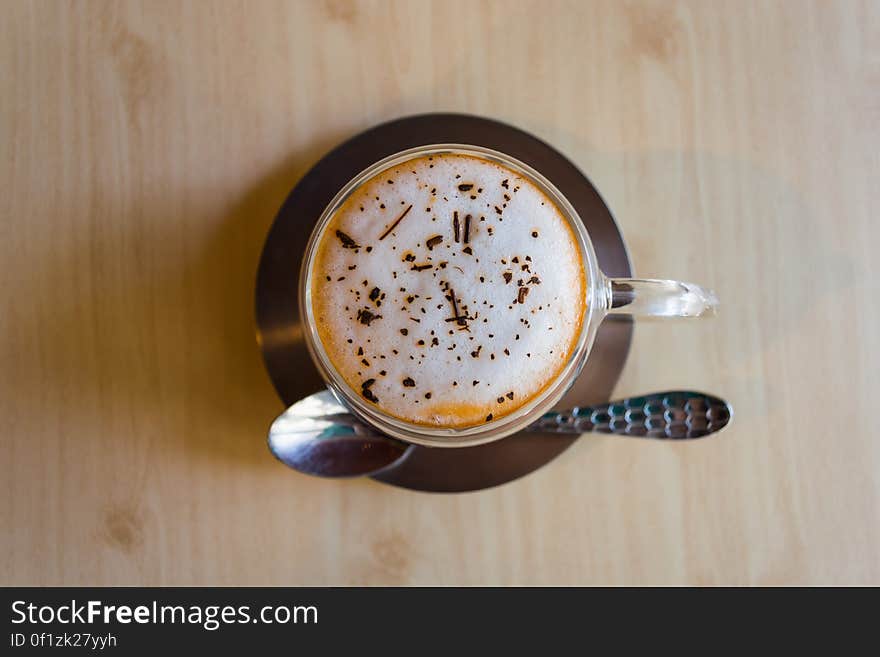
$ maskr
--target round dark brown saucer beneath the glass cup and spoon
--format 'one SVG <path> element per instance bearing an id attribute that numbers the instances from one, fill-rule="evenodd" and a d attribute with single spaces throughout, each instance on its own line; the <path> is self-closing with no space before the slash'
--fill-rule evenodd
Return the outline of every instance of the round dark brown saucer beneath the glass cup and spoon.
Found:
<path id="1" fill-rule="evenodd" d="M 465 114 L 424 114 L 383 123 L 325 155 L 299 181 L 269 230 L 257 272 L 257 341 L 275 390 L 293 402 L 324 387 L 302 339 L 297 279 L 309 234 L 351 178 L 387 155 L 414 146 L 461 143 L 502 151 L 549 178 L 577 209 L 609 276 L 630 276 L 623 238 L 590 181 L 561 153 L 517 128 Z M 583 373 L 560 408 L 609 401 L 632 338 L 627 318 L 606 319 Z M 395 486 L 462 492 L 497 486 L 537 470 L 577 436 L 520 433 L 476 447 L 411 447 L 398 465 L 373 478 Z"/>

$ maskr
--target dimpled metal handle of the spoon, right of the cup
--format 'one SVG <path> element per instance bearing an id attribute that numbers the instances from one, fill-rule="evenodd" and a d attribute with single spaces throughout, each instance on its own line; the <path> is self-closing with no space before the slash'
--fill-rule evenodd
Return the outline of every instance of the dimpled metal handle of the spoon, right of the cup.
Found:
<path id="1" fill-rule="evenodd" d="M 527 431 L 542 433 L 613 433 L 640 438 L 702 438 L 721 431 L 733 416 L 723 399 L 676 390 L 630 397 L 597 406 L 551 411 Z"/>

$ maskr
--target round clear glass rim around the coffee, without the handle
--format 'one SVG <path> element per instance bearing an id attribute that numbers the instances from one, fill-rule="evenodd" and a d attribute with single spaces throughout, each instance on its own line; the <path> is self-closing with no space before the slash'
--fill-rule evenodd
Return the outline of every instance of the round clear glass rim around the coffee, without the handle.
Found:
<path id="1" fill-rule="evenodd" d="M 543 391 L 516 411 L 489 422 L 469 427 L 432 427 L 407 422 L 389 413 L 385 413 L 378 407 L 362 400 L 357 391 L 345 382 L 330 361 L 323 342 L 318 335 L 312 313 L 312 263 L 317 246 L 333 215 L 361 184 L 377 173 L 416 157 L 435 154 L 460 154 L 481 157 L 501 164 L 527 177 L 553 201 L 568 221 L 578 243 L 582 265 L 587 277 L 586 299 L 584 300 L 586 307 L 584 318 L 581 322 L 581 330 L 575 347 L 572 349 L 558 376 Z M 416 146 L 388 155 L 356 174 L 337 192 L 324 208 L 309 237 L 305 257 L 299 272 L 298 301 L 300 317 L 303 318 L 303 335 L 309 354 L 321 377 L 324 379 L 327 388 L 341 403 L 368 424 L 385 434 L 406 442 L 431 447 L 466 447 L 499 440 L 524 429 L 552 409 L 562 398 L 583 368 L 592 349 L 598 324 L 604 316 L 601 312 L 604 305 L 600 303 L 601 299 L 604 298 L 602 295 L 604 290 L 603 281 L 604 276 L 598 267 L 592 241 L 580 215 L 562 192 L 539 171 L 506 153 L 484 146 L 461 143 L 436 143 Z"/>

